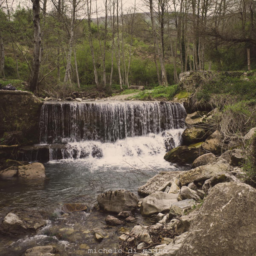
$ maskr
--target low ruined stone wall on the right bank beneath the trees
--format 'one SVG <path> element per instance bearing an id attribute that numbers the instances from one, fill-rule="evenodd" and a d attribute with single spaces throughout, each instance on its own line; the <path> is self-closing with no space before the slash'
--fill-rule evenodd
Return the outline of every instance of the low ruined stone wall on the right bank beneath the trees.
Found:
<path id="1" fill-rule="evenodd" d="M 188 92 L 194 92 L 196 87 L 204 80 L 211 80 L 214 76 L 224 75 L 230 77 L 241 77 L 242 71 L 188 71 L 180 73 L 180 88 Z"/>

